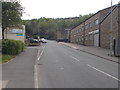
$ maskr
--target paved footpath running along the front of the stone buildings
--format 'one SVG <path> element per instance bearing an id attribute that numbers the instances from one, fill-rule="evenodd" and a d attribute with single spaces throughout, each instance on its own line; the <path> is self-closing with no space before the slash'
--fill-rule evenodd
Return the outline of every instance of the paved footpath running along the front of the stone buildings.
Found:
<path id="1" fill-rule="evenodd" d="M 82 52 L 86 52 L 86 53 L 98 56 L 100 58 L 103 58 L 103 59 L 106 59 L 106 60 L 109 60 L 109 61 L 120 63 L 118 57 L 108 55 L 109 52 L 110 52 L 110 50 L 108 50 L 108 49 L 104 49 L 104 48 L 101 48 L 101 47 L 83 46 L 83 45 L 77 45 L 77 44 L 65 43 L 65 42 L 60 42 L 60 44 L 69 46 L 71 48 L 74 48 L 76 50 L 80 50 Z"/>

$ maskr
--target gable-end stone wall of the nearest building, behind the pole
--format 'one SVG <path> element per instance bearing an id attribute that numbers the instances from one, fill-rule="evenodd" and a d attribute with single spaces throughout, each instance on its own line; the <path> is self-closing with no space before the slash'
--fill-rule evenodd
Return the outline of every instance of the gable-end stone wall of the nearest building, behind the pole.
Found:
<path id="1" fill-rule="evenodd" d="M 104 11 L 105 12 L 105 11 Z M 103 13 L 103 12 L 101 12 Z M 111 32 L 111 16 L 112 16 L 112 32 Z M 101 16 L 102 17 L 102 16 Z M 100 46 L 110 48 L 111 34 L 112 45 L 114 48 L 114 40 L 118 34 L 118 8 L 115 8 L 110 15 L 100 25 Z"/>

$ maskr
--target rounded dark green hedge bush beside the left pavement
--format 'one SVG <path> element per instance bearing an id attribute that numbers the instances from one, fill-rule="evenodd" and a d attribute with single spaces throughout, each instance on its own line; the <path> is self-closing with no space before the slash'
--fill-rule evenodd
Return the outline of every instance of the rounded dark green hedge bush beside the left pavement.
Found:
<path id="1" fill-rule="evenodd" d="M 25 44 L 20 40 L 2 40 L 2 53 L 17 55 L 25 49 Z"/>

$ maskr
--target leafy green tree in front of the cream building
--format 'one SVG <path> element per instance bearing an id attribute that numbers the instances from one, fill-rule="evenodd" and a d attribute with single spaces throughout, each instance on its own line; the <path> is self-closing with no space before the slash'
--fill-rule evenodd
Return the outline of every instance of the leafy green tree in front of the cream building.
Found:
<path id="1" fill-rule="evenodd" d="M 19 2 L 2 2 L 2 36 L 7 27 L 21 27 L 23 8 Z"/>

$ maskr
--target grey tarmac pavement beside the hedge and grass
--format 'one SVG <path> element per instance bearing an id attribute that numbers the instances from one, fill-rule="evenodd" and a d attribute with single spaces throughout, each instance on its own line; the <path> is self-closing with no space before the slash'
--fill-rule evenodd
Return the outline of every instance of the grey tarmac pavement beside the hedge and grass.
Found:
<path id="1" fill-rule="evenodd" d="M 2 88 L 34 88 L 36 56 L 36 48 L 27 48 L 13 60 L 3 64 Z"/>

